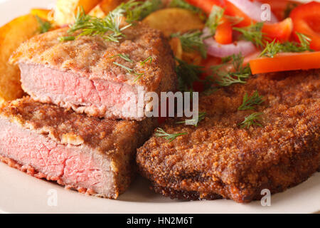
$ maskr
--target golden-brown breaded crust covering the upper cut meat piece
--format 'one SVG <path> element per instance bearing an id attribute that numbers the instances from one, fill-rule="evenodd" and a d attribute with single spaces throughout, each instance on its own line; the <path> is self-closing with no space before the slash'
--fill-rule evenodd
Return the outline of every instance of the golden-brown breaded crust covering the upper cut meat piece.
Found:
<path id="1" fill-rule="evenodd" d="M 61 71 L 73 71 L 90 79 L 143 86 L 146 91 L 167 91 L 176 87 L 174 58 L 168 41 L 155 29 L 137 24 L 123 31 L 119 43 L 105 41 L 101 36 L 80 36 L 75 41 L 60 42 L 70 36 L 68 28 L 61 28 L 31 38 L 11 56 L 11 63 L 36 63 Z M 75 33 L 77 36 L 78 33 Z M 128 55 L 132 62 L 120 58 Z M 142 64 L 147 58 L 152 61 Z M 125 68 L 114 65 L 117 62 Z"/>

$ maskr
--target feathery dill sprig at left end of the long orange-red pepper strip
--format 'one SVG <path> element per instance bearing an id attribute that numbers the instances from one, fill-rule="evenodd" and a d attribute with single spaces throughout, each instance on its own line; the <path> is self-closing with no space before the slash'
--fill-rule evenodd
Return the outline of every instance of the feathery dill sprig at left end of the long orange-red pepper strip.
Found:
<path id="1" fill-rule="evenodd" d="M 213 75 L 218 76 L 215 80 L 219 86 L 231 86 L 235 83 L 246 83 L 245 78 L 251 75 L 250 66 L 243 66 L 243 57 L 241 54 L 228 56 L 223 58 L 223 63 L 218 66 L 211 67 Z M 223 71 L 221 68 L 233 64 L 234 71 Z"/>

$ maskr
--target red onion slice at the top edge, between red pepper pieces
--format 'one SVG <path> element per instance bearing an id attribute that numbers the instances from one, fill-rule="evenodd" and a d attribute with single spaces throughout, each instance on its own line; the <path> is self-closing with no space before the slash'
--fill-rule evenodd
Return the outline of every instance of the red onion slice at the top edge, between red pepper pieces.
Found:
<path id="1" fill-rule="evenodd" d="M 250 19 L 261 22 L 261 15 L 263 9 L 261 9 L 262 3 L 258 1 L 249 1 L 249 0 L 228 0 L 230 3 L 237 6 L 243 13 L 247 14 Z M 265 21 L 266 23 L 276 23 L 278 22 L 277 17 L 272 14 L 270 11 L 270 21 Z"/>

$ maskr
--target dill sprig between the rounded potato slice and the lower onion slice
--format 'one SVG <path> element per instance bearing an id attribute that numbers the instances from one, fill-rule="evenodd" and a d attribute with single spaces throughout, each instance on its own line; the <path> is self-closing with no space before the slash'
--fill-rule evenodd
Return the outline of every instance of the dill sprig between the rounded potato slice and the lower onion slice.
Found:
<path id="1" fill-rule="evenodd" d="M 187 33 L 181 34 L 181 33 L 173 33 L 171 34 L 171 37 L 177 37 L 181 41 L 181 46 L 183 48 L 183 51 L 186 52 L 193 52 L 198 51 L 201 53 L 201 56 L 203 58 L 206 58 L 207 51 L 206 46 L 203 43 L 203 38 L 201 31 L 188 31 Z"/>

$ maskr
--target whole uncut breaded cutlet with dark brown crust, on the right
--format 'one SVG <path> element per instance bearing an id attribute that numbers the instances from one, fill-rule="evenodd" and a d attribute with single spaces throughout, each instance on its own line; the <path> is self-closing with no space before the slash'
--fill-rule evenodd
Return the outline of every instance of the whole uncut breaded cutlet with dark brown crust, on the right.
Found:
<path id="1" fill-rule="evenodd" d="M 137 153 L 142 175 L 156 192 L 173 198 L 236 202 L 260 199 L 303 182 L 320 168 L 320 71 L 252 76 L 243 85 L 201 97 L 206 118 L 198 127 L 169 120 L 167 133 L 188 133 L 169 142 L 152 137 Z M 238 110 L 245 93 L 257 90 L 264 103 Z M 262 125 L 239 128 L 247 115 L 262 112 Z M 179 119 L 180 120 L 180 119 Z M 198 196 L 194 194 L 198 192 Z"/>

